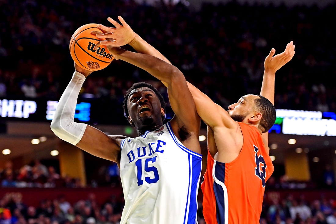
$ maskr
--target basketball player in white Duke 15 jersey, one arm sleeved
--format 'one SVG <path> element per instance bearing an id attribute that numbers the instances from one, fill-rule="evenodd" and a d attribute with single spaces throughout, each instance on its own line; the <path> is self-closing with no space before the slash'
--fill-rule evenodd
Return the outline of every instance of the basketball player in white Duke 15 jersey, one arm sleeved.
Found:
<path id="1" fill-rule="evenodd" d="M 60 139 L 118 163 L 125 197 L 122 224 L 195 224 L 202 155 L 200 117 L 193 96 L 175 66 L 150 55 L 120 53 L 115 54 L 116 59 L 168 84 L 174 118 L 163 124 L 165 102 L 159 91 L 147 83 L 135 83 L 125 95 L 124 110 L 139 137 L 107 136 L 90 125 L 74 122 L 80 89 L 92 73 L 75 64 L 51 129 Z"/>

